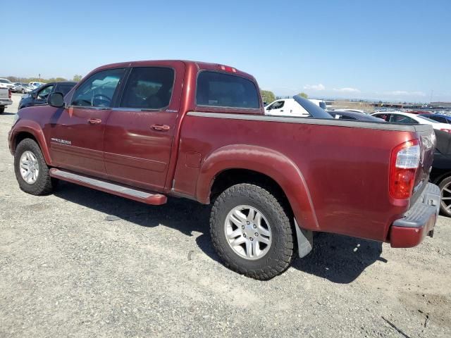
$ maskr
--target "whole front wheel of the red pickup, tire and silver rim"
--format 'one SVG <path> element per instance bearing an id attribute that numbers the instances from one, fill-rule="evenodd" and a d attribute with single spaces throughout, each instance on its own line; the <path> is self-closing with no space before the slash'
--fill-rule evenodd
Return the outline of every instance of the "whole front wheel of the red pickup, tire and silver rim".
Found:
<path id="1" fill-rule="evenodd" d="M 54 188 L 49 167 L 39 145 L 32 139 L 23 139 L 14 154 L 14 171 L 19 187 L 32 195 L 49 194 Z"/>

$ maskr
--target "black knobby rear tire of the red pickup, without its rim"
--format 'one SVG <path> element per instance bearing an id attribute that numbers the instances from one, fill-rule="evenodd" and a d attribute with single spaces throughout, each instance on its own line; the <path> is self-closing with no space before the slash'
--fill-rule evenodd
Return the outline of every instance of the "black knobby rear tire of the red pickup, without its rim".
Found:
<path id="1" fill-rule="evenodd" d="M 261 258 L 250 261 L 240 256 L 228 244 L 226 218 L 236 206 L 256 208 L 271 225 L 271 246 Z M 295 256 L 294 227 L 273 194 L 254 184 L 237 184 L 226 189 L 216 199 L 210 216 L 210 234 L 214 249 L 231 270 L 256 280 L 269 280 L 283 273 Z"/>

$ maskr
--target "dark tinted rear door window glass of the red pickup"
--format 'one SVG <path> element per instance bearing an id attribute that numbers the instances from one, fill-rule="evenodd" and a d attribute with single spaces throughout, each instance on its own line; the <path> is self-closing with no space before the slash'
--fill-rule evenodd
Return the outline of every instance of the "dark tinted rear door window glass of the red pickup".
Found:
<path id="1" fill-rule="evenodd" d="M 121 107 L 161 109 L 169 106 L 174 70 L 161 67 L 133 68 L 128 77 Z"/>

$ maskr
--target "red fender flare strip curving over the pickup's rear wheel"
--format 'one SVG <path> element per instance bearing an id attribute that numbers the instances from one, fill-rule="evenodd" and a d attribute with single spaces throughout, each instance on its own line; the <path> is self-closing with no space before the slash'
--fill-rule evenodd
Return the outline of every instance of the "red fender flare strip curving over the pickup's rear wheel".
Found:
<path id="1" fill-rule="evenodd" d="M 197 180 L 198 201 L 209 202 L 215 177 L 228 169 L 253 170 L 271 177 L 285 192 L 300 227 L 320 230 L 307 183 L 297 165 L 287 156 L 261 146 L 233 144 L 207 156 Z"/>

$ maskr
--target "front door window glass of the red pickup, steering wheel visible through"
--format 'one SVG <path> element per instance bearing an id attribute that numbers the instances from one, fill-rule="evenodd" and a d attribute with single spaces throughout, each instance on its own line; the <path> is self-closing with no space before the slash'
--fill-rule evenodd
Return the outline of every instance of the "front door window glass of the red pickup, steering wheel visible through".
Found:
<path id="1" fill-rule="evenodd" d="M 91 75 L 73 94 L 72 105 L 110 107 L 124 68 L 103 70 Z"/>

